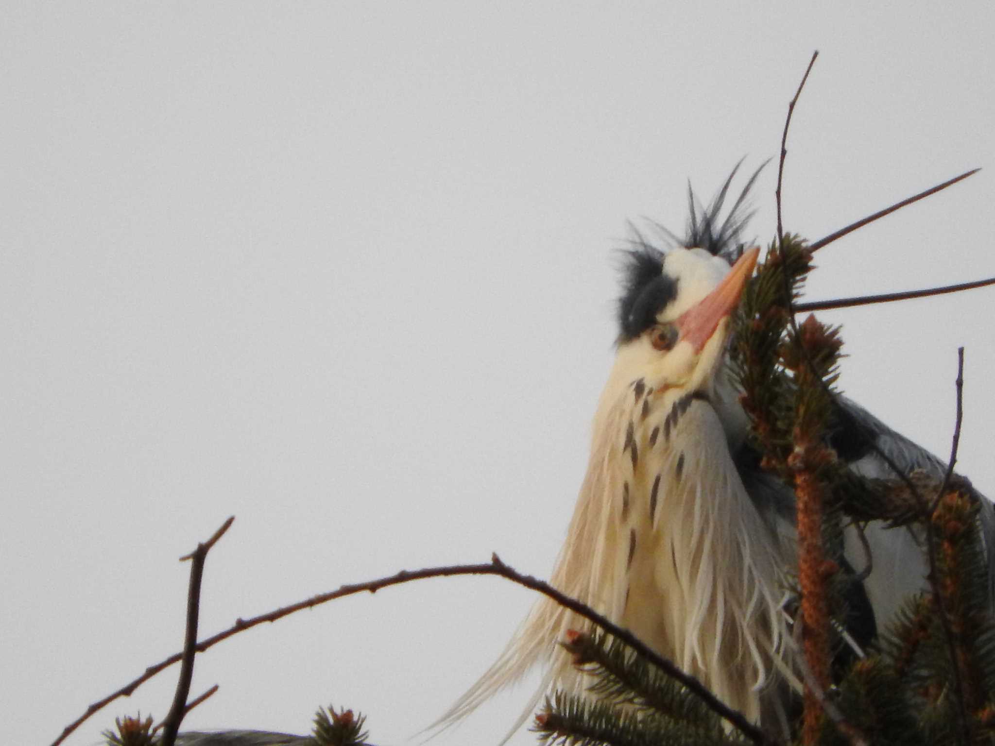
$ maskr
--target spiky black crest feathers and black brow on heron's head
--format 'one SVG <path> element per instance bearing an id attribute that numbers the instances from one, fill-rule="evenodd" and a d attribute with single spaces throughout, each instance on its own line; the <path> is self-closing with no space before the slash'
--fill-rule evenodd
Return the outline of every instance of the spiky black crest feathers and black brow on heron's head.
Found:
<path id="1" fill-rule="evenodd" d="M 708 253 L 722 257 L 729 264 L 742 253 L 739 241 L 742 229 L 751 217 L 748 196 L 760 171 L 768 161 L 760 164 L 743 187 L 732 208 L 722 218 L 722 207 L 728 196 L 729 185 L 742 165 L 736 163 L 721 188 L 703 207 L 695 196 L 691 182 L 688 183 L 688 207 L 690 215 L 683 238 L 675 236 L 664 226 L 654 223 L 667 242 L 670 250 L 676 248 L 704 249 Z M 632 229 L 633 248 L 626 251 L 622 264 L 622 295 L 619 297 L 619 341 L 635 339 L 652 326 L 657 314 L 677 295 L 677 280 L 664 275 L 665 250 L 653 246 L 636 228 Z"/>

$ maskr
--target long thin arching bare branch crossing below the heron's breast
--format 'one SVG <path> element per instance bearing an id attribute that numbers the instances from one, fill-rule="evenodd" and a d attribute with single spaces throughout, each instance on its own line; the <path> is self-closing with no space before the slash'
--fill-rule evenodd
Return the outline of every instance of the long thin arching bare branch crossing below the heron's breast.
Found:
<path id="1" fill-rule="evenodd" d="M 738 729 L 743 735 L 745 735 L 750 741 L 756 744 L 765 744 L 767 746 L 772 746 L 776 742 L 770 739 L 763 731 L 753 725 L 746 717 L 736 710 L 728 707 L 721 700 L 715 697 L 700 681 L 697 680 L 692 675 L 685 673 L 681 670 L 675 663 L 668 660 L 667 658 L 661 656 L 659 653 L 655 653 L 653 650 L 648 648 L 645 643 L 641 642 L 636 636 L 634 636 L 628 630 L 622 629 L 617 625 L 609 622 L 605 617 L 601 616 L 593 609 L 579 601 L 575 601 L 570 597 L 560 593 L 552 586 L 544 583 L 541 580 L 537 580 L 528 575 L 522 575 L 512 568 L 505 565 L 497 555 L 494 555 L 492 561 L 487 564 L 480 565 L 445 565 L 442 567 L 429 567 L 422 570 L 401 570 L 396 575 L 391 575 L 385 578 L 378 578 L 377 580 L 366 581 L 365 583 L 355 583 L 352 585 L 343 585 L 335 591 L 330 591 L 328 593 L 322 593 L 317 596 L 312 596 L 309 599 L 299 601 L 296 604 L 291 604 L 289 606 L 281 607 L 280 609 L 275 609 L 272 612 L 266 614 L 261 614 L 257 617 L 252 617 L 251 619 L 238 619 L 235 624 L 213 635 L 206 640 L 202 640 L 197 644 L 196 650 L 198 653 L 203 653 L 209 648 L 213 648 L 218 643 L 223 640 L 227 640 L 233 635 L 238 635 L 241 632 L 245 632 L 250 628 L 257 627 L 268 622 L 276 622 L 279 619 L 283 619 L 295 612 L 299 612 L 303 609 L 312 609 L 315 606 L 324 604 L 328 601 L 334 601 L 335 599 L 340 599 L 345 596 L 353 596 L 358 593 L 376 593 L 381 588 L 388 588 L 390 586 L 400 585 L 402 583 L 410 583 L 417 580 L 425 580 L 426 578 L 448 578 L 463 575 L 496 575 L 498 577 L 505 578 L 512 583 L 516 583 L 525 588 L 529 588 L 533 591 L 541 593 L 556 603 L 562 605 L 563 607 L 574 612 L 578 616 L 581 616 L 595 625 L 600 627 L 605 632 L 618 638 L 623 643 L 628 645 L 637 653 L 644 655 L 648 660 L 653 662 L 655 665 L 659 666 L 668 675 L 680 681 L 684 686 L 686 686 L 690 691 L 695 693 L 704 704 L 715 712 L 719 717 L 723 718 L 730 724 L 732 724 L 736 729 Z M 95 702 L 90 705 L 87 712 L 83 714 L 75 722 L 68 725 L 63 731 L 62 735 L 57 738 L 52 746 L 59 746 L 60 743 L 65 740 L 65 738 L 76 730 L 85 720 L 87 720 L 91 715 L 100 710 L 103 706 L 113 701 L 114 699 L 121 696 L 129 696 L 132 691 L 134 691 L 138 686 L 147 681 L 149 678 L 154 676 L 156 673 L 164 668 L 172 665 L 176 661 L 182 658 L 182 653 L 174 653 L 160 662 L 150 665 L 145 671 L 132 680 L 131 682 L 125 684 L 116 691 L 108 694 L 100 701 Z"/>

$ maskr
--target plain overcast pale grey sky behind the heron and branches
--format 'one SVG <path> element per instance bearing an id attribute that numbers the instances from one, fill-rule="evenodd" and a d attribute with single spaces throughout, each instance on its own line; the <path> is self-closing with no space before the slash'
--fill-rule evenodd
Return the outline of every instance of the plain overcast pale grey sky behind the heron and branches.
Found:
<path id="1" fill-rule="evenodd" d="M 832 7 L 829 7 L 829 6 Z M 995 275 L 987 2 L 4 3 L 0 25 L 0 741 L 49 743 L 204 635 L 401 568 L 546 576 L 612 359 L 626 221 L 776 155 L 819 238 L 809 296 Z M 751 235 L 774 229 L 775 169 Z M 993 291 L 825 314 L 842 388 L 995 495 Z M 531 598 L 495 579 L 348 599 L 198 658 L 187 728 L 401 743 Z M 165 715 L 175 669 L 118 701 Z M 512 692 L 439 743 L 490 743 Z M 520 736 L 518 743 L 529 742 Z"/>

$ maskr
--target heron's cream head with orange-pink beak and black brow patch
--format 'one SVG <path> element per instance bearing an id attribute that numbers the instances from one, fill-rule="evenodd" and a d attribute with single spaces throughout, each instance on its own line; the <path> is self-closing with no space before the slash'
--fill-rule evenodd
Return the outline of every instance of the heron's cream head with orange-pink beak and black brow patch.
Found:
<path id="1" fill-rule="evenodd" d="M 621 302 L 619 363 L 662 390 L 709 386 L 721 367 L 729 315 L 760 250 L 732 267 L 703 249 L 630 255 Z"/>

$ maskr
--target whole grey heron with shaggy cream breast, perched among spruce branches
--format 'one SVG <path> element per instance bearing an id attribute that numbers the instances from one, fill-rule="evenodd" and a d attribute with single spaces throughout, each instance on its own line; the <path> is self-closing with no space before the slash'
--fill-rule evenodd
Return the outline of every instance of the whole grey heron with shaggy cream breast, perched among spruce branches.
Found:
<path id="1" fill-rule="evenodd" d="M 551 583 L 629 629 L 754 722 L 786 727 L 786 691 L 799 688 L 784 613 L 797 570 L 794 493 L 750 453 L 749 423 L 725 360 L 728 316 L 759 251 L 743 253 L 736 241 L 756 175 L 723 221 L 731 175 L 707 209 L 699 212 L 692 195 L 679 246 L 665 253 L 638 237 L 626 254 L 615 364 Z M 837 405 L 841 422 L 830 445 L 858 471 L 892 476 L 884 453 L 903 470 L 942 474 L 934 457 L 856 404 L 840 397 Z M 986 503 L 989 536 L 991 512 Z M 868 537 L 875 566 L 855 584 L 854 604 L 865 617 L 864 642 L 874 637 L 876 620 L 891 618 L 908 593 L 922 588 L 926 571 L 910 531 L 878 526 Z M 866 564 L 862 551 L 848 536 L 850 564 Z M 440 723 L 462 719 L 540 662 L 545 675 L 515 729 L 550 687 L 582 693 L 585 674 L 556 643 L 586 628 L 572 612 L 539 600 Z"/>

